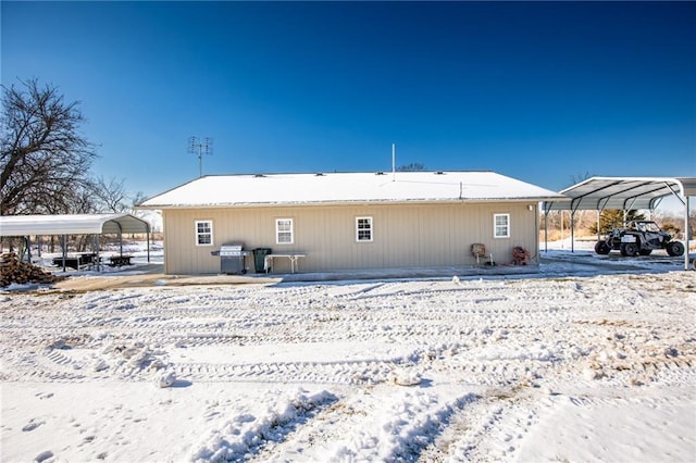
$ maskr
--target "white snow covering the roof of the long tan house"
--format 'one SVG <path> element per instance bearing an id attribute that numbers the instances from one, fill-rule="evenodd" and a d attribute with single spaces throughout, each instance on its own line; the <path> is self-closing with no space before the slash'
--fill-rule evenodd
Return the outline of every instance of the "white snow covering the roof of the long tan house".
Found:
<path id="1" fill-rule="evenodd" d="M 494 172 L 213 175 L 158 195 L 139 208 L 562 199 Z"/>

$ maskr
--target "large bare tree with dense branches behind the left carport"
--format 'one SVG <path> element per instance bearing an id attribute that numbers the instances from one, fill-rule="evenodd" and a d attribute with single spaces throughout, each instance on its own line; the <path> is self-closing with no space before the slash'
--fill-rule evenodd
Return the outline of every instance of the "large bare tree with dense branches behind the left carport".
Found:
<path id="1" fill-rule="evenodd" d="M 75 212 L 97 157 L 78 130 L 85 120 L 57 87 L 21 84 L 2 86 L 0 214 Z"/>

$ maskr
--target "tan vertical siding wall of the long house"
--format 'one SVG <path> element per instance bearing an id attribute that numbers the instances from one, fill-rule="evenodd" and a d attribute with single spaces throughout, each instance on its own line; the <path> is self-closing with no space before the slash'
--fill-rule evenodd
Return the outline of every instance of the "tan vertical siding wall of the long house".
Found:
<path id="1" fill-rule="evenodd" d="M 493 237 L 493 214 L 510 214 L 511 238 Z M 471 245 L 482 242 L 498 263 L 512 260 L 522 246 L 536 255 L 536 204 L 450 203 L 343 207 L 169 210 L 164 214 L 165 272 L 217 273 L 220 258 L 210 254 L 224 242 L 274 253 L 304 252 L 300 271 L 472 265 Z M 373 241 L 356 241 L 356 217 L 373 218 Z M 291 245 L 275 242 L 275 220 L 293 218 Z M 196 246 L 195 222 L 213 222 L 213 246 Z M 253 271 L 252 259 L 247 265 Z M 275 260 L 275 272 L 289 262 Z"/>

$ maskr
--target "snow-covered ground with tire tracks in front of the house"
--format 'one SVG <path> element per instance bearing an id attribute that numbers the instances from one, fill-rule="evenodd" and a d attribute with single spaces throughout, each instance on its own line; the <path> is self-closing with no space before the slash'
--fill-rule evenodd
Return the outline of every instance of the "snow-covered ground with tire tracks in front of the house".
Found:
<path id="1" fill-rule="evenodd" d="M 696 461 L 696 273 L 544 255 L 529 277 L 2 292 L 0 460 Z"/>

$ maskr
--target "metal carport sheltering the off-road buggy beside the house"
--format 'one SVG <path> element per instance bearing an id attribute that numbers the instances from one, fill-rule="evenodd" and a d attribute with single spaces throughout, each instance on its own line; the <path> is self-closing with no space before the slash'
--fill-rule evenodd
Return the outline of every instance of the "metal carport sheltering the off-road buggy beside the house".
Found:
<path id="1" fill-rule="evenodd" d="M 559 192 L 570 198 L 570 201 L 545 201 L 545 223 L 548 222 L 546 218 L 550 211 L 570 211 L 572 251 L 575 241 L 575 212 L 597 211 L 599 215 L 605 209 L 652 211 L 664 198 L 675 197 L 684 207 L 684 270 L 688 270 L 689 197 L 696 197 L 696 177 L 592 177 Z M 545 225 L 546 250 L 547 238 L 548 229 Z"/>

